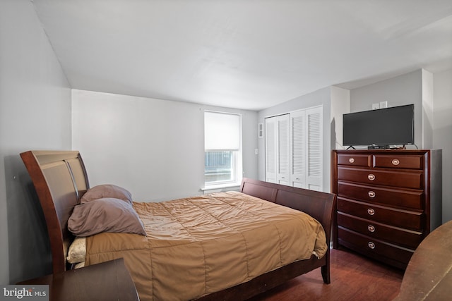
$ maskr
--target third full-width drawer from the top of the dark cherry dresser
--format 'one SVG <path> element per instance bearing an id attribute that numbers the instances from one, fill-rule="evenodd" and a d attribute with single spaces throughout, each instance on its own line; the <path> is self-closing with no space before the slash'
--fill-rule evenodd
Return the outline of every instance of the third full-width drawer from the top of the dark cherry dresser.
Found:
<path id="1" fill-rule="evenodd" d="M 338 197 L 338 212 L 413 231 L 424 230 L 422 211 L 408 211 Z"/>

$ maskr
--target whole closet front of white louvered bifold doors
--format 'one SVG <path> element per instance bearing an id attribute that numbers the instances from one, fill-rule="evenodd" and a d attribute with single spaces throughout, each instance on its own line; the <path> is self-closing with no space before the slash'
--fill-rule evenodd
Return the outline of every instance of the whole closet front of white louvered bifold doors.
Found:
<path id="1" fill-rule="evenodd" d="M 321 191 L 323 107 L 266 118 L 266 181 Z"/>

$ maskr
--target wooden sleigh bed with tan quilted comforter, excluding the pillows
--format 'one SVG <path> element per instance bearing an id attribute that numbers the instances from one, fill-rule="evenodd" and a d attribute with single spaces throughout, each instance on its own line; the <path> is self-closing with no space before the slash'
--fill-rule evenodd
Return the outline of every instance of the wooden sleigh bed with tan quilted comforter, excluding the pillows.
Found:
<path id="1" fill-rule="evenodd" d="M 53 272 L 59 273 L 67 269 L 72 269 L 73 265 L 69 264 L 67 261 L 67 255 L 69 247 L 75 239 L 75 235 L 69 231 L 68 223 L 72 219 L 71 215 L 73 215 L 76 211 L 74 209 L 80 208 L 78 206 L 81 203 L 81 199 L 85 196 L 87 191 L 90 191 L 88 175 L 85 165 L 83 164 L 81 154 L 77 151 L 28 151 L 21 153 L 20 156 L 23 159 L 28 173 L 30 174 L 30 178 L 35 186 L 37 196 L 40 199 L 40 203 L 44 211 L 52 250 Z M 208 203 L 206 203 L 206 198 L 210 198 L 207 201 Z M 95 202 L 98 201 L 99 200 L 95 200 Z M 269 290 L 270 288 L 274 288 L 275 286 L 280 285 L 291 278 L 295 278 L 296 276 L 318 268 L 321 268 L 320 272 L 324 283 L 330 283 L 329 242 L 331 238 L 333 209 L 335 207 L 335 195 L 333 194 L 292 188 L 285 185 L 266 183 L 245 178 L 242 181 L 239 192 L 220 192 L 219 194 L 198 196 L 191 199 L 187 198 L 162 203 L 165 203 L 163 204 L 163 206 L 165 206 L 165 210 L 163 211 L 191 211 L 188 208 L 203 206 L 203 212 L 205 213 L 203 215 L 208 216 L 208 219 L 213 219 L 213 223 L 232 223 L 233 219 L 231 216 L 236 215 L 236 213 L 235 211 L 229 211 L 229 209 L 239 207 L 239 211 L 248 212 L 248 215 L 251 216 L 251 219 L 254 219 L 256 223 L 263 224 L 263 221 L 268 220 L 273 223 L 273 226 L 267 226 L 265 230 L 258 230 L 261 231 L 261 233 L 257 235 L 246 234 L 246 232 L 236 235 L 234 227 L 245 228 L 246 231 L 256 227 L 250 226 L 243 221 L 238 222 L 239 226 L 227 224 L 227 227 L 225 228 L 226 230 L 223 229 L 220 231 L 220 234 L 218 231 L 215 232 L 216 230 L 211 231 L 214 238 L 209 238 L 208 241 L 215 243 L 210 243 L 210 247 L 208 242 L 198 241 L 204 235 L 212 234 L 208 233 L 209 231 L 206 231 L 206 228 L 199 231 L 196 230 L 197 228 L 193 228 L 194 230 L 190 231 L 190 235 L 193 233 L 198 235 L 194 240 L 190 240 L 191 238 L 183 238 L 183 243 L 175 243 L 172 242 L 172 240 L 171 242 L 168 242 L 169 240 L 167 241 L 165 239 L 159 240 L 160 238 L 159 235 L 157 235 L 158 233 L 154 233 L 154 229 L 158 230 L 160 228 L 152 228 L 153 225 L 155 226 L 155 221 L 157 219 L 155 212 L 159 211 L 159 209 L 155 209 L 153 206 L 162 206 L 162 204 L 132 202 L 133 209 L 137 212 L 141 219 L 141 223 L 145 228 L 145 233 L 142 235 L 137 233 L 98 233 L 95 235 L 88 235 L 86 238 L 87 257 L 85 259 L 85 264 L 95 264 L 109 259 L 124 257 L 124 261 L 127 268 L 131 272 L 133 280 L 136 282 L 136 285 L 138 283 L 137 290 L 141 300 L 246 300 L 249 297 L 253 297 L 254 295 L 258 295 L 259 293 Z M 172 209 L 169 210 L 168 206 Z M 246 206 L 251 206 L 251 209 L 244 209 Z M 153 207 L 153 209 L 151 209 L 152 214 L 148 214 L 151 216 L 150 219 L 145 217 L 147 214 L 146 212 L 149 211 L 147 207 Z M 180 210 L 180 208 L 183 209 Z M 214 210 L 212 208 L 216 209 Z M 224 210 L 224 208 L 227 208 L 227 210 Z M 273 211 L 279 212 L 278 210 L 282 210 L 281 214 L 275 213 L 274 215 L 277 216 L 275 221 L 270 221 L 270 218 L 273 217 L 271 216 L 273 214 L 270 213 Z M 215 214 L 215 212 L 219 213 Z M 227 212 L 227 214 L 225 214 L 225 212 Z M 230 216 L 227 216 L 228 214 Z M 200 214 L 195 213 L 192 217 L 196 216 L 197 218 L 198 215 Z M 309 222 L 298 221 L 301 219 L 301 215 L 306 216 L 309 219 Z M 290 221 L 287 216 L 291 216 Z M 316 229 L 316 233 L 314 234 L 308 233 L 295 236 L 304 237 L 304 235 L 306 235 L 307 237 L 314 237 L 315 242 L 311 242 L 311 245 L 315 245 L 314 247 L 317 247 L 317 241 L 321 240 L 321 234 L 323 234 L 323 240 L 325 242 L 323 246 L 324 250 L 321 251 L 322 247 L 317 250 L 322 253 L 321 256 L 317 254 L 318 252 L 315 252 L 316 250 L 313 252 L 309 251 L 309 256 L 307 256 L 307 258 L 304 258 L 306 257 L 306 252 L 304 252 L 303 255 L 296 255 L 293 254 L 292 250 L 285 250 L 285 245 L 287 245 L 288 242 L 290 242 L 291 245 L 295 245 L 296 247 L 298 246 L 297 250 L 305 248 L 300 246 L 299 242 L 295 242 L 295 238 L 293 237 L 287 236 L 287 239 L 284 238 L 285 235 L 290 235 L 291 232 L 294 232 L 291 231 L 292 223 L 294 222 L 292 221 L 292 216 L 295 216 L 296 223 L 302 223 L 305 225 L 304 228 L 307 228 L 306 225 L 308 224 L 313 224 L 314 229 Z M 158 219 L 160 222 L 162 219 L 167 218 L 158 217 Z M 175 219 L 177 219 L 179 223 L 180 219 L 185 218 L 177 216 Z M 189 221 L 194 223 L 192 218 L 190 218 Z M 319 223 L 321 226 L 315 226 L 315 222 Z M 196 223 L 199 222 L 196 221 Z M 265 227 L 264 224 L 263 226 Z M 207 228 L 209 227 L 210 223 Z M 168 226 L 167 230 L 177 231 L 177 233 L 180 234 L 186 231 L 186 228 L 187 226 L 184 225 L 182 226 L 182 230 L 175 230 L 173 226 Z M 278 230 L 275 231 L 274 228 L 278 228 Z M 289 228 L 290 231 L 287 231 L 288 234 L 284 234 L 283 232 L 280 232 L 280 228 Z M 215 235 L 217 237 L 215 237 Z M 261 238 L 258 238 L 259 235 L 261 235 Z M 160 237 L 162 237 L 162 235 L 160 235 Z M 238 240 L 231 240 L 234 237 L 238 238 Z M 221 243 L 223 238 L 230 240 L 226 240 L 226 247 L 218 247 L 218 244 Z M 273 238 L 275 238 L 275 242 L 272 242 Z M 190 240 L 190 242 L 186 243 L 187 240 Z M 259 240 L 261 242 L 266 240 L 267 242 L 259 244 Z M 240 241 L 243 243 L 240 243 Z M 101 254 L 101 256 L 99 256 L 98 252 L 105 246 L 106 242 L 117 244 L 107 246 L 107 249 L 114 248 L 114 252 L 112 252 L 112 250 L 106 250 L 106 255 Z M 121 249 L 118 244 L 123 245 L 123 249 Z M 143 244 L 145 247 L 143 247 Z M 172 281 L 172 285 L 169 285 L 169 288 L 167 288 L 169 292 L 166 292 L 166 294 L 169 293 L 170 295 L 162 293 L 162 291 L 165 290 L 165 288 L 163 288 L 165 287 L 165 277 L 162 278 L 163 280 L 159 280 L 156 275 L 158 271 L 158 269 L 155 268 L 156 262 L 158 263 L 163 259 L 153 257 L 152 260 L 150 260 L 150 267 L 155 268 L 155 271 L 153 271 L 153 274 L 149 274 L 148 268 L 145 267 L 146 263 L 136 264 L 136 262 L 131 259 L 132 257 L 136 257 L 135 251 L 129 252 L 131 245 L 140 245 L 141 247 L 138 247 L 138 249 L 140 249 L 141 252 L 145 250 L 144 252 L 146 256 L 150 257 L 156 256 L 154 255 L 155 250 L 157 250 L 155 245 L 160 247 L 162 245 L 165 247 L 174 247 L 174 245 L 178 245 L 179 247 L 179 245 L 184 244 L 189 247 L 194 247 L 191 251 L 186 251 L 185 254 L 187 260 L 189 257 L 196 257 L 201 259 L 204 264 L 206 264 L 206 262 L 211 263 L 210 265 L 201 267 L 201 271 L 204 273 L 201 273 L 201 276 L 206 278 L 203 281 L 198 281 L 205 281 L 205 283 L 201 285 L 201 293 L 198 289 L 194 289 L 194 293 L 192 292 L 191 295 L 179 295 L 178 293 L 182 293 L 182 291 L 184 291 L 185 294 L 185 290 L 188 288 L 199 286 L 198 282 L 196 282 L 196 270 L 198 270 L 196 269 L 196 261 L 189 263 L 188 269 L 184 269 L 184 271 L 181 270 L 180 273 L 177 272 L 177 270 L 174 270 L 177 269 L 177 267 L 174 267 L 177 266 L 174 262 L 180 262 L 182 260 L 177 259 L 174 256 L 176 256 L 178 252 L 180 254 L 180 252 L 184 251 L 178 250 L 176 252 L 164 252 L 171 253 L 173 257 L 170 257 L 166 264 L 165 262 L 160 262 L 160 270 L 165 270 L 166 266 L 171 266 L 168 267 L 168 271 L 166 271 L 167 277 L 168 275 L 172 275 L 171 279 L 167 278 L 167 281 Z M 271 245 L 273 248 L 274 245 L 278 245 L 278 247 L 270 252 L 264 250 L 263 252 L 266 255 L 259 259 L 250 255 L 255 252 L 255 250 L 251 247 L 253 244 L 258 248 L 266 245 Z M 150 245 L 150 247 L 147 247 L 148 245 Z M 242 264 L 241 262 L 234 259 L 234 257 L 231 257 L 232 259 L 224 259 L 222 257 L 223 255 L 219 253 L 218 249 L 225 249 L 228 245 L 230 245 L 231 250 L 244 250 L 244 254 L 237 256 L 242 256 L 244 258 L 246 257 L 246 262 L 243 263 L 245 265 L 244 269 L 246 269 L 247 273 L 246 276 L 240 276 L 238 274 L 240 269 L 236 269 L 236 267 Z M 321 245 L 321 242 L 319 242 L 319 245 Z M 198 249 L 196 249 L 196 247 Z M 118 248 L 121 250 L 118 250 Z M 213 255 L 206 255 L 206 252 L 209 249 L 213 250 Z M 232 256 L 233 253 L 231 250 L 226 252 L 226 256 Z M 272 252 L 278 256 L 278 260 L 274 260 L 275 264 L 267 264 L 273 260 L 270 256 L 270 253 Z M 256 254 L 258 254 L 257 251 Z M 249 258 L 254 258 L 253 260 L 255 264 L 253 264 L 253 260 L 249 260 Z M 182 262 L 184 262 L 184 260 L 182 260 Z M 184 262 L 184 264 L 186 263 Z M 218 272 L 218 266 L 222 267 L 221 272 Z M 265 270 L 262 270 L 262 266 L 265 266 Z M 187 268 L 187 266 L 185 267 Z M 255 270 L 254 267 L 256 267 L 257 270 Z M 187 271 L 190 271 L 189 274 L 187 274 Z M 147 280 L 140 278 L 140 274 L 151 275 L 148 277 L 152 278 L 150 281 L 153 281 L 153 284 L 151 284 L 152 289 L 150 291 L 144 291 L 147 289 L 143 288 L 142 282 Z M 179 274 L 182 278 L 178 278 Z M 230 275 L 232 275 L 232 280 Z M 160 286 L 155 284 L 159 281 Z M 177 290 L 179 286 L 182 290 Z"/>

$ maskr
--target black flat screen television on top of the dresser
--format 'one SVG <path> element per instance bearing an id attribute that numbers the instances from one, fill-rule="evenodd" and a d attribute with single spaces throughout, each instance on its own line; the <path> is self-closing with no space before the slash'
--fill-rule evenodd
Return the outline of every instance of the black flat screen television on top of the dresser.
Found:
<path id="1" fill-rule="evenodd" d="M 374 146 L 415 143 L 415 105 L 346 113 L 343 115 L 344 146 Z"/>

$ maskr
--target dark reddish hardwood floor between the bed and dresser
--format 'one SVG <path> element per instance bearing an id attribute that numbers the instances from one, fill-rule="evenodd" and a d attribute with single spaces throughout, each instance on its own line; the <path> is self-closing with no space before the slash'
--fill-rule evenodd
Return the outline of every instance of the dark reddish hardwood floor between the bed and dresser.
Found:
<path id="1" fill-rule="evenodd" d="M 316 269 L 249 301 L 393 300 L 400 290 L 403 272 L 340 248 L 331 250 L 331 284 L 324 284 L 320 269 Z"/>

